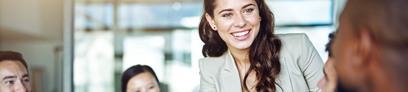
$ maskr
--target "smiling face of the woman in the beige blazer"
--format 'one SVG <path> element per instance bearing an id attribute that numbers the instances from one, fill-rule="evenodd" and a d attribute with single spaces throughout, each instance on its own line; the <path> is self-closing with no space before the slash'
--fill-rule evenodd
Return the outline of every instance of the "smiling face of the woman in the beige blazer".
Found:
<path id="1" fill-rule="evenodd" d="M 255 0 L 217 0 L 214 17 L 206 13 L 206 18 L 230 49 L 249 48 L 261 21 Z"/>

